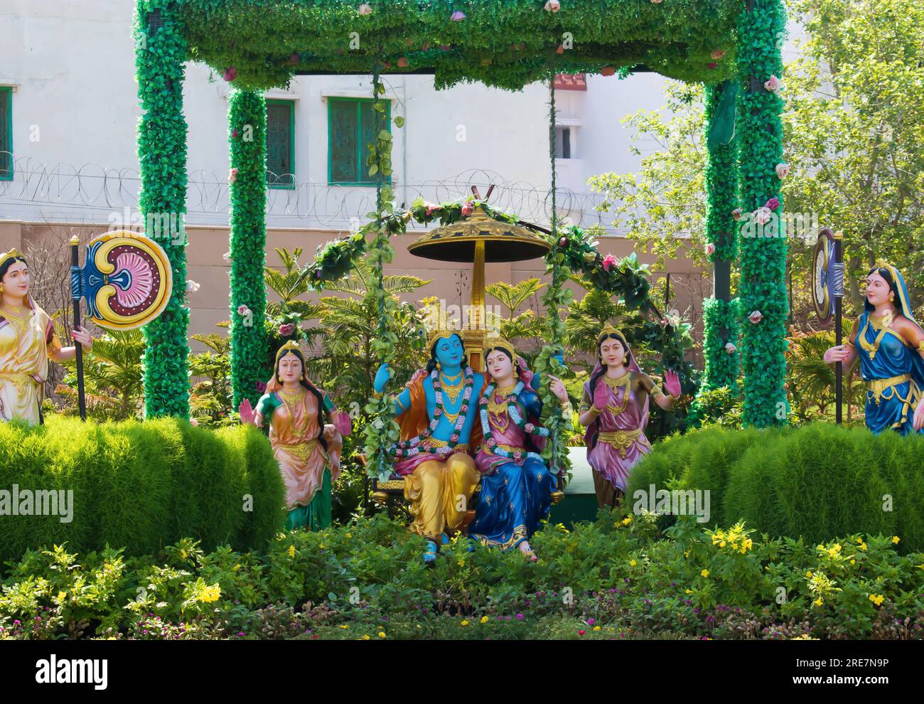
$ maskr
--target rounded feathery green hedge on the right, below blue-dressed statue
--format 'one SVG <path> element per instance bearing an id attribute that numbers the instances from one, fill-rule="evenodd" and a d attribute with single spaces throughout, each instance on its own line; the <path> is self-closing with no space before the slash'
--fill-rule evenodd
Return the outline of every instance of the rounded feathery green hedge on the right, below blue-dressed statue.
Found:
<path id="1" fill-rule="evenodd" d="M 713 427 L 658 443 L 629 476 L 638 490 L 709 490 L 710 523 L 745 520 L 771 536 L 899 536 L 924 549 L 924 436 L 817 422 L 797 428 Z M 630 504 L 631 505 L 631 504 Z"/>

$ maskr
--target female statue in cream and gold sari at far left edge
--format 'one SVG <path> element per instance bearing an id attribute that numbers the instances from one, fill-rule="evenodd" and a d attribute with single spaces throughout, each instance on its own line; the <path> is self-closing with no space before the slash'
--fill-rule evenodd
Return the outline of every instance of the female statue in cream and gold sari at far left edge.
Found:
<path id="1" fill-rule="evenodd" d="M 0 254 L 0 420 L 42 422 L 42 394 L 48 360 L 75 358 L 63 347 L 51 317 L 30 296 L 29 264 L 16 250 Z M 89 352 L 93 340 L 84 328 L 71 333 Z"/>

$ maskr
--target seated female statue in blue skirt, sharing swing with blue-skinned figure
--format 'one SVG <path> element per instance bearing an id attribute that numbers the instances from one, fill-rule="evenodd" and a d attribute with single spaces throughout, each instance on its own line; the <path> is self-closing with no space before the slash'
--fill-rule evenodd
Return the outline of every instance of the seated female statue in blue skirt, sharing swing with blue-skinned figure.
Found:
<path id="1" fill-rule="evenodd" d="M 535 562 L 529 538 L 549 515 L 555 491 L 555 478 L 539 455 L 549 436 L 539 422 L 542 402 L 531 386 L 532 372 L 510 342 L 489 336 L 484 359 L 491 378 L 479 399 L 483 439 L 475 464 L 481 495 L 468 534 L 483 545 L 516 547 Z M 550 388 L 570 417 L 564 384 L 550 375 Z"/>

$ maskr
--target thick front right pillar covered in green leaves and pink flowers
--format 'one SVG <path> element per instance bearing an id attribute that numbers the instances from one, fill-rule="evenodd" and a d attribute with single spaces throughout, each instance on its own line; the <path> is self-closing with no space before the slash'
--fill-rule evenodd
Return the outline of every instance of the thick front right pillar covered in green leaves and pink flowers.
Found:
<path id="1" fill-rule="evenodd" d="M 738 20 L 737 115 L 741 207 L 741 356 L 744 423 L 765 428 L 786 421 L 786 239 L 777 164 L 783 162 L 783 0 L 746 0 Z M 774 201 L 773 199 L 776 199 Z M 775 205 L 775 207 L 774 207 Z M 763 222 L 766 221 L 766 222 Z"/>

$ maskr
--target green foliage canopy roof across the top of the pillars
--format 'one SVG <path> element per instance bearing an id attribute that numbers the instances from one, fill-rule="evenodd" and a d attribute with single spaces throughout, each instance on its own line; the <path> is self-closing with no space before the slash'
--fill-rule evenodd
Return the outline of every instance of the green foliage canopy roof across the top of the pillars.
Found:
<path id="1" fill-rule="evenodd" d="M 564 73 L 644 65 L 687 81 L 735 73 L 740 0 L 182 0 L 189 55 L 261 90 L 299 73 L 435 72 L 437 89 L 480 81 L 507 90 Z M 454 11 L 465 14 L 452 21 Z M 354 34 L 355 33 L 355 34 Z M 353 40 L 353 43 L 351 43 Z M 562 53 L 556 50 L 562 47 Z M 713 52 L 724 51 L 716 59 Z"/>

